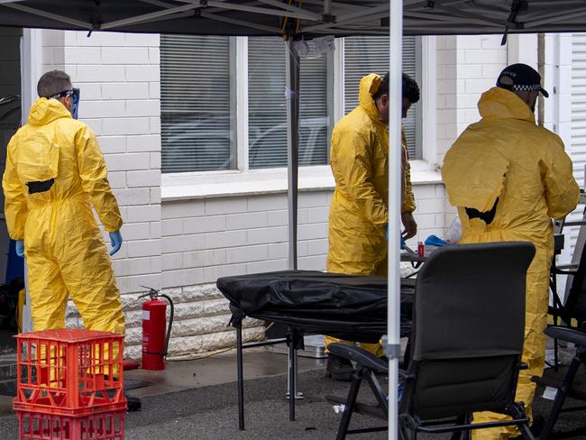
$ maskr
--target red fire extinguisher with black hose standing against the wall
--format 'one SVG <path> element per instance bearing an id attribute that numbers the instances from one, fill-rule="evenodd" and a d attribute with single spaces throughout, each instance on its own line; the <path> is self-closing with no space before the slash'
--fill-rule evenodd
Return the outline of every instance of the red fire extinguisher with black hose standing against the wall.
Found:
<path id="1" fill-rule="evenodd" d="M 144 370 L 165 370 L 165 358 L 169 348 L 169 336 L 175 312 L 173 301 L 156 289 L 146 289 L 149 289 L 149 292 L 139 297 L 151 298 L 142 304 L 142 368 Z M 165 298 L 169 302 L 170 315 L 167 335 L 165 335 L 167 303 L 158 299 L 159 297 Z"/>

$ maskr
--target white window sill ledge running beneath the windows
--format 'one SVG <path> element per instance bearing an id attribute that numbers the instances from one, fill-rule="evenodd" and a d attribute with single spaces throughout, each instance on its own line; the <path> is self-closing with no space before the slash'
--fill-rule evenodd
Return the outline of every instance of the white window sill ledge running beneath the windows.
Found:
<path id="1" fill-rule="evenodd" d="M 420 163 L 419 163 L 420 162 Z M 413 160 L 411 183 L 434 185 L 442 176 L 425 160 Z M 287 169 L 249 170 L 246 172 L 210 171 L 202 173 L 163 174 L 161 200 L 193 200 L 199 198 L 241 197 L 286 193 Z M 334 177 L 329 166 L 299 169 L 298 190 L 325 191 L 334 189 Z"/>

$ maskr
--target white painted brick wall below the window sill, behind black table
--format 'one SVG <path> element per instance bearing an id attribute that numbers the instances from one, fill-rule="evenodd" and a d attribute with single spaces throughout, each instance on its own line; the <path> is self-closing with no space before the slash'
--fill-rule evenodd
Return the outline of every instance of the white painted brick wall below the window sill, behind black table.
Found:
<path id="1" fill-rule="evenodd" d="M 333 188 L 298 198 L 298 267 L 325 270 L 327 216 Z M 415 186 L 419 231 L 409 243 L 444 233 L 444 186 Z M 215 283 L 218 277 L 286 270 L 287 194 L 163 202 L 162 284 Z"/>

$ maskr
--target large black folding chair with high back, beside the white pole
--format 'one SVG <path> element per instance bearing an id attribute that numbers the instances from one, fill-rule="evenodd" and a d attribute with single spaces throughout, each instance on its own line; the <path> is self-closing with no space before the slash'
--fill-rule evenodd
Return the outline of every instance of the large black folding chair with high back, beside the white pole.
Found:
<path id="1" fill-rule="evenodd" d="M 534 254 L 531 243 L 467 244 L 438 249 L 423 265 L 416 284 L 412 353 L 407 371 L 399 373 L 403 438 L 453 432 L 456 439 L 462 431 L 510 425 L 518 426 L 525 439 L 534 438 L 523 403 L 514 400 L 522 368 L 526 270 Z M 328 348 L 356 362 L 347 398 L 326 397 L 345 406 L 337 439 L 380 430 L 348 426 L 353 412 L 387 419 L 387 394 L 374 372 L 388 373 L 388 365 L 358 347 Z M 369 382 L 375 404 L 357 402 L 362 380 Z M 512 418 L 471 424 L 473 412 L 487 410 Z"/>

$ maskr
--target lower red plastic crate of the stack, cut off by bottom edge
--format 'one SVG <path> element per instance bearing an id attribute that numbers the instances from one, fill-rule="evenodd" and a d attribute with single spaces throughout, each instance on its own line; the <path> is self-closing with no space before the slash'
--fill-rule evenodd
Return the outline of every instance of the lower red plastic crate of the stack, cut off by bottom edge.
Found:
<path id="1" fill-rule="evenodd" d="M 20 411 L 20 440 L 124 440 L 125 409 L 82 417 Z"/>

